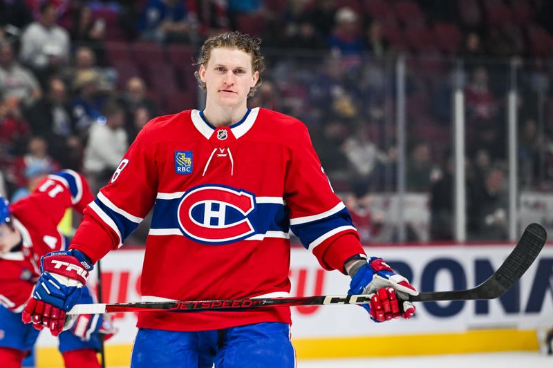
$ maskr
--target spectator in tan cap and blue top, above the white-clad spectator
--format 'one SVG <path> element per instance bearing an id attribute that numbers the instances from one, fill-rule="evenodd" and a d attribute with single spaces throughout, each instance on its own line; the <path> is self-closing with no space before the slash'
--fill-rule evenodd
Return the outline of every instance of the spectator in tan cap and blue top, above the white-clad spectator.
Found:
<path id="1" fill-rule="evenodd" d="M 88 128 L 102 116 L 105 97 L 98 89 L 97 75 L 85 70 L 77 75 L 74 83 L 77 96 L 73 99 L 73 119 L 79 135 L 86 135 Z"/>

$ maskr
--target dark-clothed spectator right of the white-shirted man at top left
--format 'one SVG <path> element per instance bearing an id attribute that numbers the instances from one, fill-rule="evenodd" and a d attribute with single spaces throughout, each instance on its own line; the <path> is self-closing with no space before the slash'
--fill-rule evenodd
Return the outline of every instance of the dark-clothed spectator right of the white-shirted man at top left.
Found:
<path id="1" fill-rule="evenodd" d="M 83 45 L 93 50 L 95 57 L 104 65 L 106 61 L 104 38 L 106 37 L 106 21 L 94 19 L 89 6 L 81 4 L 75 10 L 73 25 L 71 27 L 71 41 L 73 45 Z"/>

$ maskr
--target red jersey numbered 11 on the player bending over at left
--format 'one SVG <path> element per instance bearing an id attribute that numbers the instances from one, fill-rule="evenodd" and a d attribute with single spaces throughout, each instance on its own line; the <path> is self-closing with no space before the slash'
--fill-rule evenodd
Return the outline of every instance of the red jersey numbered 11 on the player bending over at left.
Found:
<path id="1" fill-rule="evenodd" d="M 79 173 L 65 170 L 48 175 L 28 197 L 10 204 L 13 226 L 22 244 L 0 255 L 0 303 L 21 312 L 40 275 L 40 258 L 66 248 L 57 224 L 73 207 L 80 213 L 94 200 L 88 183 Z"/>

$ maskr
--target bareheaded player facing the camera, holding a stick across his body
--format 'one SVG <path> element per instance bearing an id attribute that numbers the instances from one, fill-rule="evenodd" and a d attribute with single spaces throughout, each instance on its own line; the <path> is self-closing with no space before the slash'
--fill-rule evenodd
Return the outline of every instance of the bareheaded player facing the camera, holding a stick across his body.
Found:
<path id="1" fill-rule="evenodd" d="M 202 46 L 196 77 L 204 110 L 151 120 L 95 201 L 69 251 L 46 255 L 24 320 L 62 329 L 87 270 L 122 244 L 153 207 L 143 301 L 286 296 L 290 229 L 321 267 L 374 294 L 373 320 L 410 318 L 418 291 L 382 259 L 367 258 L 299 120 L 247 108 L 261 84 L 260 40 L 228 32 Z M 59 262 L 68 267 L 57 268 Z M 51 282 L 50 282 L 51 281 Z M 138 315 L 132 367 L 294 367 L 290 309 Z M 155 342 L 155 343 L 152 343 Z"/>

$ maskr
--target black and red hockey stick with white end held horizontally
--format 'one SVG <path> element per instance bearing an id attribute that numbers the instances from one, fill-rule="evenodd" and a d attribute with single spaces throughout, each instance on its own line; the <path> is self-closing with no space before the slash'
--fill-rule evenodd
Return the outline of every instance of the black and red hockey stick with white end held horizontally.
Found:
<path id="1" fill-rule="evenodd" d="M 431 302 L 435 300 L 476 300 L 498 298 L 530 267 L 545 244 L 545 229 L 530 224 L 521 240 L 499 269 L 485 282 L 473 289 L 459 291 L 431 291 L 420 293 L 410 300 Z M 251 298 L 220 300 L 187 300 L 163 302 L 133 302 L 116 304 L 77 304 L 68 314 L 94 314 L 142 311 L 239 311 L 257 307 L 294 307 L 300 305 L 364 304 L 368 295 L 307 296 L 293 298 Z"/>

